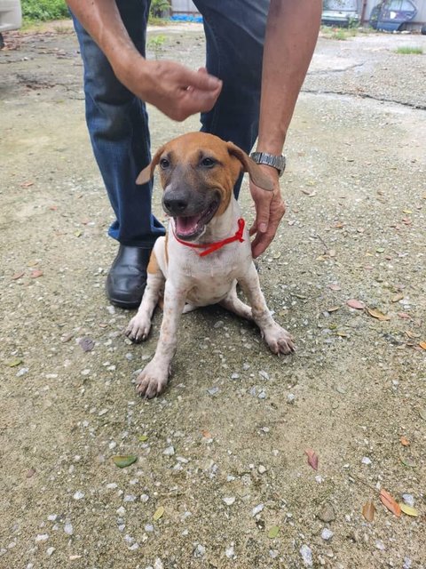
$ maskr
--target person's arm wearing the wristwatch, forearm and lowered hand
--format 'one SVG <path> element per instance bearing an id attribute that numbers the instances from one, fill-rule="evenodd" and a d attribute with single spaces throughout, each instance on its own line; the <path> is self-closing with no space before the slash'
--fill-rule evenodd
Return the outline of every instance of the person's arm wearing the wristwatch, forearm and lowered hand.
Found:
<path id="1" fill-rule="evenodd" d="M 271 0 L 264 41 L 262 97 L 256 150 L 280 155 L 296 100 L 312 59 L 321 18 L 321 0 Z M 250 184 L 256 220 L 250 229 L 254 257 L 268 245 L 280 225 L 285 205 L 278 172 L 262 166 L 274 183 L 273 192 Z"/>

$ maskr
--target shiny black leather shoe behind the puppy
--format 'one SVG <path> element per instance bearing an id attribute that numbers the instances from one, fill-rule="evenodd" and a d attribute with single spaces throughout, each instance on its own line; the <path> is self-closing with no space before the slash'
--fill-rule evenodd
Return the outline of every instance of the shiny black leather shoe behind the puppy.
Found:
<path id="1" fill-rule="evenodd" d="M 120 245 L 108 276 L 106 295 L 121 309 L 137 309 L 146 286 L 150 248 Z"/>

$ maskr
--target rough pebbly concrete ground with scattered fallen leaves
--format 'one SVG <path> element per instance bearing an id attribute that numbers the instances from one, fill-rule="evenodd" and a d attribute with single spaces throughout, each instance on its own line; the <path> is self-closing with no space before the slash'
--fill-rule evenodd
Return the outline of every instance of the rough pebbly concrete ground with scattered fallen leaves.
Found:
<path id="1" fill-rule="evenodd" d="M 203 62 L 198 26 L 150 39 L 152 57 Z M 286 142 L 288 212 L 259 261 L 296 355 L 200 310 L 149 402 L 132 381 L 161 313 L 134 346 L 106 301 L 116 244 L 75 36 L 5 40 L 0 567 L 426 567 L 426 36 L 319 39 Z M 198 128 L 150 116 L 153 148 Z"/>

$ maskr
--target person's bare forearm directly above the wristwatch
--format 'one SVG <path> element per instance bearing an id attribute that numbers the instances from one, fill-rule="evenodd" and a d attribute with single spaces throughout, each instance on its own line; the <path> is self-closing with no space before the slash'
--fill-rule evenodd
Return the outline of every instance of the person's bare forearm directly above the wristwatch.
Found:
<path id="1" fill-rule="evenodd" d="M 271 0 L 264 42 L 259 151 L 282 152 L 317 42 L 321 9 L 321 0 Z"/>

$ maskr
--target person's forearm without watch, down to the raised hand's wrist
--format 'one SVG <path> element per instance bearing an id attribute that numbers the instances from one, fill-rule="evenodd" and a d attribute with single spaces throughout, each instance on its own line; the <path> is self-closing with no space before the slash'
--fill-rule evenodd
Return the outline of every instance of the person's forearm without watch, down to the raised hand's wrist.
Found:
<path id="1" fill-rule="evenodd" d="M 125 67 L 130 60 L 143 60 L 130 39 L 114 0 L 67 0 L 83 28 L 105 53 L 112 67 Z"/>

